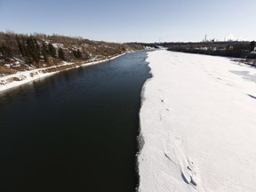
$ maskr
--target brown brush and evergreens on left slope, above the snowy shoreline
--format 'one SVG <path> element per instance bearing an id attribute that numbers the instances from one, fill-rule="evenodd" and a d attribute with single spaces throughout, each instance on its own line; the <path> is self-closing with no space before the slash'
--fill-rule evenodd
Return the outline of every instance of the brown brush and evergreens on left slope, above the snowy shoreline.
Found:
<path id="1" fill-rule="evenodd" d="M 0 74 L 7 75 L 31 68 L 58 66 L 63 60 L 69 62 L 104 60 L 124 52 L 143 50 L 146 45 L 148 46 L 139 43 L 116 44 L 91 41 L 79 36 L 0 32 L 0 63 L 2 63 Z"/>

